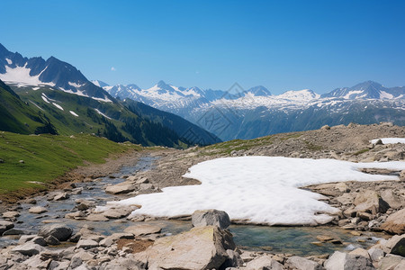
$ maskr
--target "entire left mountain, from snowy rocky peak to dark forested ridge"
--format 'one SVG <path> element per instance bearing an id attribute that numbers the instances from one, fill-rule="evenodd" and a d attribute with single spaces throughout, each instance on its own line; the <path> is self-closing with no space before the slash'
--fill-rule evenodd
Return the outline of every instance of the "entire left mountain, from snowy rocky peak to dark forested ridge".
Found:
<path id="1" fill-rule="evenodd" d="M 0 103 L 0 130 L 23 134 L 87 132 L 175 148 L 220 141 L 175 114 L 115 99 L 58 58 L 24 58 L 1 44 Z"/>

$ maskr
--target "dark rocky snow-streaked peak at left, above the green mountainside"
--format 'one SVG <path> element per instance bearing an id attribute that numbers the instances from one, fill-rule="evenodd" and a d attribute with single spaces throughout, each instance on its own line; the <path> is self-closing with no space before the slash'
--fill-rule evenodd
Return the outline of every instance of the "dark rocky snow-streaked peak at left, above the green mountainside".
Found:
<path id="1" fill-rule="evenodd" d="M 0 79 L 15 85 L 49 85 L 67 93 L 88 96 L 103 102 L 111 102 L 113 99 L 103 88 L 89 82 L 76 67 L 58 58 L 24 58 L 18 52 L 5 49 L 2 44 Z"/>

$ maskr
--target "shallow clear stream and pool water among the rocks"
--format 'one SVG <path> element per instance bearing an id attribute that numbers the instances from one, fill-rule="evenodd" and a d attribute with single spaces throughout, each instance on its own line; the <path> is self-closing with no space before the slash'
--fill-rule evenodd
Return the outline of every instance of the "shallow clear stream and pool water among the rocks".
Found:
<path id="1" fill-rule="evenodd" d="M 105 184 L 118 184 L 124 181 L 120 178 L 122 175 L 133 175 L 142 170 L 148 170 L 153 167 L 156 157 L 141 157 L 139 162 L 133 166 L 125 166 L 117 174 L 103 177 L 100 181 L 92 181 L 76 184 L 77 187 L 83 187 L 81 194 L 71 195 L 65 201 L 47 201 L 45 197 L 36 197 L 37 206 L 46 206 L 49 211 L 43 214 L 32 214 L 28 210 L 31 204 L 22 204 L 20 210 L 21 216 L 17 218 L 15 229 L 24 229 L 31 233 L 37 233 L 38 229 L 43 226 L 44 220 L 55 220 L 63 222 L 73 229 L 80 229 L 85 224 L 94 228 L 95 231 L 104 235 L 110 235 L 114 232 L 121 232 L 126 227 L 133 225 L 135 222 L 123 220 L 109 221 L 87 221 L 65 219 L 67 212 L 72 211 L 76 206 L 76 199 L 93 200 L 96 205 L 105 205 L 106 202 L 120 200 L 122 197 L 104 193 Z M 162 227 L 165 235 L 180 233 L 192 228 L 191 221 L 180 220 L 155 220 L 148 223 L 157 224 Z M 375 243 L 378 237 L 383 234 L 366 232 L 368 235 L 355 237 L 345 229 L 338 227 L 268 227 L 255 225 L 232 225 L 230 231 L 234 235 L 235 243 L 239 247 L 251 250 L 266 250 L 275 253 L 292 253 L 296 255 L 309 256 L 331 253 L 334 250 L 368 247 Z M 331 243 L 320 246 L 313 244 L 317 242 L 318 235 L 331 235 L 340 238 L 342 245 Z M 0 238 L 0 247 L 8 246 L 18 240 L 17 237 Z M 358 241 L 360 239 L 360 242 Z"/>

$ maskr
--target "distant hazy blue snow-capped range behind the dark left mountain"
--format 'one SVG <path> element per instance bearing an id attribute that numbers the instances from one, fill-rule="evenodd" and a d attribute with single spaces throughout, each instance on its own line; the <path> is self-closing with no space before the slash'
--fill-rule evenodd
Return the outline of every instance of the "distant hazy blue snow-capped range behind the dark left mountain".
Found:
<path id="1" fill-rule="evenodd" d="M 252 139 L 350 121 L 405 124 L 405 87 L 387 88 L 371 81 L 322 95 L 310 89 L 274 95 L 264 86 L 204 90 L 163 81 L 148 89 L 137 85 L 103 86 L 103 89 L 112 96 L 178 114 L 223 140 Z"/>

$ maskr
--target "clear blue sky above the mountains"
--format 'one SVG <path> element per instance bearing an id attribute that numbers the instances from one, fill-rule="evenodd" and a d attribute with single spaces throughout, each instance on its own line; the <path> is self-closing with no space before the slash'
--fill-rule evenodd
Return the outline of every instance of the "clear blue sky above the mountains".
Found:
<path id="1" fill-rule="evenodd" d="M 89 79 L 275 94 L 374 80 L 405 85 L 405 1 L 20 1 L 0 43 Z M 113 68 L 112 68 L 113 67 Z M 112 70 L 114 69 L 114 70 Z"/>

